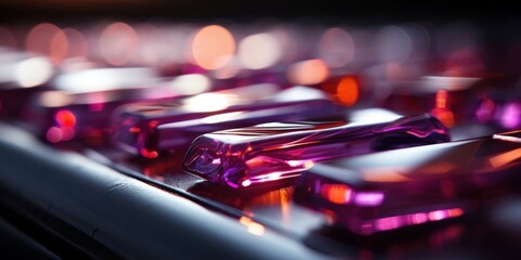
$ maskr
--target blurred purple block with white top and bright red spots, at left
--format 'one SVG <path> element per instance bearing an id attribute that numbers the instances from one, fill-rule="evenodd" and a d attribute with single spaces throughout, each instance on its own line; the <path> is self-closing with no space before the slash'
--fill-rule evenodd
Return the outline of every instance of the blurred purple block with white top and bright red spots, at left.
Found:
<path id="1" fill-rule="evenodd" d="M 144 67 L 65 73 L 53 78 L 46 90 L 34 93 L 27 104 L 20 104 L 22 113 L 16 119 L 52 143 L 99 135 L 106 131 L 113 109 L 148 99 L 151 86 L 162 88 L 154 70 Z M 177 93 L 165 92 L 163 98 L 171 95 Z"/>

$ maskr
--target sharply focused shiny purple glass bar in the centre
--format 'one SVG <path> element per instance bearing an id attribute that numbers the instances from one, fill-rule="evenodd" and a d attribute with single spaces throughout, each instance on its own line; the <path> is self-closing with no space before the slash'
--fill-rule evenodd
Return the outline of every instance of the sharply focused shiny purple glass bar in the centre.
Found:
<path id="1" fill-rule="evenodd" d="M 449 141 L 445 126 L 430 114 L 379 123 L 266 123 L 199 136 L 183 168 L 231 187 L 295 178 L 314 162 Z"/>

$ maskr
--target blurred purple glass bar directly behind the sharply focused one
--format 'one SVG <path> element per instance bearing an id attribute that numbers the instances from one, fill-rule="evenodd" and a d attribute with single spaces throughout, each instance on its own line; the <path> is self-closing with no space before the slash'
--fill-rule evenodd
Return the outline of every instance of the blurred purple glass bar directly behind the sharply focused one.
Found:
<path id="1" fill-rule="evenodd" d="M 319 90 L 254 84 L 203 93 L 170 102 L 135 103 L 112 119 L 114 143 L 130 153 L 155 158 L 182 151 L 196 136 L 269 121 L 341 119 L 344 110 Z"/>

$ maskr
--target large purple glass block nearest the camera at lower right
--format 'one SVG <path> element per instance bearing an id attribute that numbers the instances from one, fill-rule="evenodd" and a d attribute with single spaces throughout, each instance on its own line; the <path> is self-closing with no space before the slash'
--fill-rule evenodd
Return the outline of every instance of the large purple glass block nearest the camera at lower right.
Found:
<path id="1" fill-rule="evenodd" d="M 460 217 L 519 191 L 521 132 L 355 156 L 315 165 L 297 204 L 369 235 Z"/>

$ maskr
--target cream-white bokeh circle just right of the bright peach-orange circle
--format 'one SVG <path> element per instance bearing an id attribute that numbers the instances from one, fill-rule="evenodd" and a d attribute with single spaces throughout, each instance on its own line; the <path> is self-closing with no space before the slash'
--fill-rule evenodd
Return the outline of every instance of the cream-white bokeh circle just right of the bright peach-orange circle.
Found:
<path id="1" fill-rule="evenodd" d="M 269 67 L 276 64 L 281 55 L 281 46 L 270 34 L 252 35 L 239 43 L 239 58 L 251 69 Z"/>

